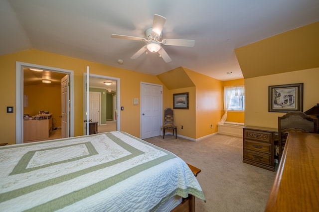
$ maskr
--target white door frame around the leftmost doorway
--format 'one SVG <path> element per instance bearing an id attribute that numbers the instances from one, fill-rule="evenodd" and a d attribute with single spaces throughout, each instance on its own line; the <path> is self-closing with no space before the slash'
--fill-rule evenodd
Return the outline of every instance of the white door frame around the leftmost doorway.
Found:
<path id="1" fill-rule="evenodd" d="M 70 121 L 69 131 L 70 137 L 74 136 L 74 72 L 72 70 L 60 69 L 49 66 L 42 66 L 38 64 L 15 62 L 15 143 L 23 143 L 23 68 L 37 68 L 44 69 L 47 71 L 58 72 L 62 74 L 67 74 L 70 76 L 70 111 L 69 117 Z"/>

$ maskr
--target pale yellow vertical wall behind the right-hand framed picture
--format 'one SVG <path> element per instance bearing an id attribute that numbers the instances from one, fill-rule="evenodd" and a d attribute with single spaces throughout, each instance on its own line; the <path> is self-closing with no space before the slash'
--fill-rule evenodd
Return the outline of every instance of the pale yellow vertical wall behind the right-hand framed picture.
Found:
<path id="1" fill-rule="evenodd" d="M 278 128 L 278 116 L 268 112 L 268 86 L 304 83 L 304 110 L 319 103 L 319 68 L 245 79 L 245 125 Z"/>

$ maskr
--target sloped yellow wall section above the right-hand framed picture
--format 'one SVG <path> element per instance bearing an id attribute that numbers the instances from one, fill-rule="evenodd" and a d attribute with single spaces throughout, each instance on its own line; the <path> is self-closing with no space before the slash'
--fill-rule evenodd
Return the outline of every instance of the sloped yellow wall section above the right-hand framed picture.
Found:
<path id="1" fill-rule="evenodd" d="M 319 21 L 235 49 L 245 79 L 319 67 Z"/>

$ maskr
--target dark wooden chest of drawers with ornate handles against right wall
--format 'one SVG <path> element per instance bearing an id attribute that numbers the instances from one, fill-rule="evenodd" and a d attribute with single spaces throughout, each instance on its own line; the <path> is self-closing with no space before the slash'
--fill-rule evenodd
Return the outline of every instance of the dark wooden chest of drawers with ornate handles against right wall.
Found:
<path id="1" fill-rule="evenodd" d="M 275 141 L 278 141 L 277 129 L 245 126 L 243 162 L 275 171 Z"/>

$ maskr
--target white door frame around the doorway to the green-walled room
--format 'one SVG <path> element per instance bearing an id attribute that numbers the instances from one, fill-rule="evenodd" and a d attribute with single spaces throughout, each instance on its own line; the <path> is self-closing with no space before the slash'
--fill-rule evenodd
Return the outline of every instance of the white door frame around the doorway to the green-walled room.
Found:
<path id="1" fill-rule="evenodd" d="M 85 81 L 85 79 L 86 79 L 86 77 L 87 77 L 87 73 L 85 72 L 85 73 L 83 73 L 83 118 L 84 119 L 86 119 L 85 117 L 86 117 L 86 114 L 87 114 L 87 112 L 89 112 L 89 111 L 87 111 L 87 106 L 86 106 L 86 99 L 87 99 L 87 97 L 86 97 L 86 81 Z M 117 110 L 118 110 L 118 112 L 117 112 L 117 119 L 116 119 L 116 130 L 118 130 L 118 131 L 120 131 L 121 130 L 121 124 L 120 124 L 120 120 L 121 120 L 121 112 L 120 112 L 120 78 L 116 78 L 116 77 L 109 77 L 109 76 L 104 76 L 104 75 L 97 75 L 97 74 L 91 74 L 90 72 L 89 72 L 89 77 L 88 78 L 90 78 L 90 77 L 95 77 L 95 78 L 100 78 L 100 79 L 104 79 L 104 80 L 114 80 L 114 81 L 116 81 L 116 95 L 117 95 L 117 101 L 116 101 L 116 103 L 117 103 Z M 90 81 L 89 81 L 89 86 L 90 86 Z M 83 127 L 83 133 L 84 133 L 84 135 L 86 135 L 86 127 Z"/>

